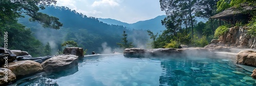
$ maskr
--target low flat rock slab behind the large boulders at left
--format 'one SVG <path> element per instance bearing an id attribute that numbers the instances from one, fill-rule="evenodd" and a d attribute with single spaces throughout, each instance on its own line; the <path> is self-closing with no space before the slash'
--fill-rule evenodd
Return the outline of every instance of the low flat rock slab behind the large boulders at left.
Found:
<path id="1" fill-rule="evenodd" d="M 33 61 L 36 61 L 38 63 L 42 63 L 44 61 L 46 61 L 47 59 L 51 58 L 53 56 L 44 56 L 44 57 L 25 57 L 25 56 L 22 56 L 22 57 L 17 57 L 17 60 L 33 60 Z"/>

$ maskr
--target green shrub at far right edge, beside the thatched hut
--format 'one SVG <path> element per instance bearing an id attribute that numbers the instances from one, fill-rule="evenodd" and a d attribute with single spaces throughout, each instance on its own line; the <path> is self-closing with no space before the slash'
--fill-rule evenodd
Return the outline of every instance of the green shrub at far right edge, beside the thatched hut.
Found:
<path id="1" fill-rule="evenodd" d="M 248 33 L 252 37 L 255 37 L 256 36 L 256 15 L 254 15 L 251 18 L 251 21 L 249 22 L 249 24 L 247 24 L 247 26 L 249 27 Z"/>

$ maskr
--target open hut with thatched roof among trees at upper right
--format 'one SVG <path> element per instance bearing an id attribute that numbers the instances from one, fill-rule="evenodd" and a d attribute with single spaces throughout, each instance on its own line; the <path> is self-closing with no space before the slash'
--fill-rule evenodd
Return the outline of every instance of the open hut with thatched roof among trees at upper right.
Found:
<path id="1" fill-rule="evenodd" d="M 243 5 L 240 8 L 231 7 L 214 16 L 211 16 L 210 18 L 219 19 L 220 26 L 221 20 L 226 21 L 226 23 L 231 24 L 231 26 L 235 26 L 237 22 L 248 23 L 251 18 L 250 11 L 256 12 L 256 7 L 251 7 L 248 5 Z"/>

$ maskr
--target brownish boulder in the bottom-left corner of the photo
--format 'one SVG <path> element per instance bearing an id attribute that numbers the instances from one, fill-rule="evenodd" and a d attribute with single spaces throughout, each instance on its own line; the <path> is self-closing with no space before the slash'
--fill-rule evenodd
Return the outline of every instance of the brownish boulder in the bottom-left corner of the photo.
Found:
<path id="1" fill-rule="evenodd" d="M 0 85 L 7 85 L 15 80 L 16 76 L 11 70 L 7 68 L 0 68 Z"/>

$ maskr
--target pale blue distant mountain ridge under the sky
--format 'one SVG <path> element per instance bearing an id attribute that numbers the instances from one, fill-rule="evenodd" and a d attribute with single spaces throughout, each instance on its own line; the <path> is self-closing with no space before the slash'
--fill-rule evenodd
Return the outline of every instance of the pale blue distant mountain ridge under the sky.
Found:
<path id="1" fill-rule="evenodd" d="M 98 18 L 98 20 L 109 25 L 121 25 L 127 27 L 127 29 L 151 30 L 154 33 L 161 33 L 161 31 L 165 30 L 165 27 L 161 24 L 161 20 L 165 17 L 166 15 L 160 15 L 155 18 L 142 20 L 133 24 L 124 23 L 111 18 Z"/>

